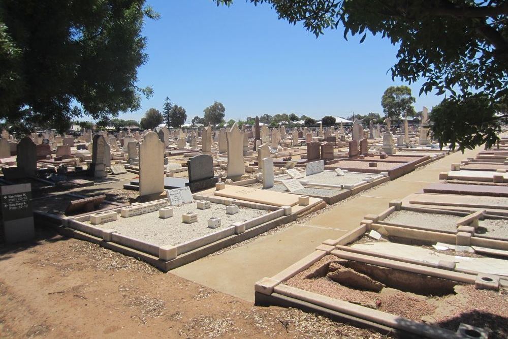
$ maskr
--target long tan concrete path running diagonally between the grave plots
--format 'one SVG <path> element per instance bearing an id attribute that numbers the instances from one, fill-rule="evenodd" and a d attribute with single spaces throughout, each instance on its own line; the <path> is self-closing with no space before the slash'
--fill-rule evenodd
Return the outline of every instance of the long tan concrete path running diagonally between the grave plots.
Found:
<path id="1" fill-rule="evenodd" d="M 452 153 L 414 172 L 336 204 L 305 224 L 296 224 L 224 252 L 178 267 L 171 273 L 244 300 L 254 301 L 254 284 L 311 253 L 326 239 L 336 239 L 360 225 L 365 214 L 379 213 L 391 200 L 416 193 L 452 163 L 473 157 L 481 148 Z"/>

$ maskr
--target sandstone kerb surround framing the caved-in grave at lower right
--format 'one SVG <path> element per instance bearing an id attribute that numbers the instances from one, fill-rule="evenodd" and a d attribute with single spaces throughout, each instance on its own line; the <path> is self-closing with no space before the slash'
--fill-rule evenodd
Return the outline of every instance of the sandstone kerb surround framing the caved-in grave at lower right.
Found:
<path id="1" fill-rule="evenodd" d="M 395 316 L 386 312 L 373 310 L 369 307 L 340 299 L 302 290 L 284 284 L 299 272 L 312 266 L 326 255 L 333 255 L 337 259 L 354 260 L 363 263 L 376 264 L 382 267 L 400 269 L 407 272 L 417 272 L 436 278 L 451 279 L 465 284 L 474 284 L 475 276 L 470 274 L 450 272 L 444 269 L 426 267 L 416 264 L 399 262 L 396 260 L 379 259 L 372 256 L 349 253 L 335 250 L 336 245 L 345 245 L 356 240 L 366 232 L 365 225 L 360 226 L 350 234 L 334 240 L 326 240 L 316 247 L 316 250 L 289 266 L 287 269 L 275 274 L 271 278 L 263 278 L 255 284 L 255 298 L 257 305 L 284 305 L 301 308 L 305 303 L 307 310 L 326 314 L 328 317 L 338 320 L 355 321 L 378 331 L 393 332 L 404 336 L 412 334 L 421 337 L 442 338 L 454 337 L 455 332 L 423 322 Z M 332 243 L 333 245 L 330 245 Z M 344 246 L 341 246 L 344 247 Z"/>

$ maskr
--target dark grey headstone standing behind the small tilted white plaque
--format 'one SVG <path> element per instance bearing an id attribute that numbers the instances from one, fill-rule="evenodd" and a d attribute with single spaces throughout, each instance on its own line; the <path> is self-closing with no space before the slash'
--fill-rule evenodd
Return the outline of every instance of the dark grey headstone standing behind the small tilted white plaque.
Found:
<path id="1" fill-rule="evenodd" d="M 187 161 L 190 191 L 197 192 L 215 186 L 218 177 L 213 174 L 213 158 L 210 155 L 199 155 Z"/>

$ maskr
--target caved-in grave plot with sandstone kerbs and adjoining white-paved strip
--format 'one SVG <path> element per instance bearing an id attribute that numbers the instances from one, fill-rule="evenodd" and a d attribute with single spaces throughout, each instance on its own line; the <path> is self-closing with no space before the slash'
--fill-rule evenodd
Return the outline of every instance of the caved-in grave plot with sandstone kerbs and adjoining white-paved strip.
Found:
<path id="1" fill-rule="evenodd" d="M 465 329 L 481 337 L 489 333 L 486 328 L 494 337 L 508 335 L 508 300 L 498 293 L 506 281 L 475 272 L 487 262 L 488 271 L 499 273 L 505 260 L 458 260 L 419 246 L 365 241 L 367 231 L 363 224 L 326 240 L 307 257 L 257 282 L 256 303 L 299 307 L 400 337 L 457 337 Z"/>

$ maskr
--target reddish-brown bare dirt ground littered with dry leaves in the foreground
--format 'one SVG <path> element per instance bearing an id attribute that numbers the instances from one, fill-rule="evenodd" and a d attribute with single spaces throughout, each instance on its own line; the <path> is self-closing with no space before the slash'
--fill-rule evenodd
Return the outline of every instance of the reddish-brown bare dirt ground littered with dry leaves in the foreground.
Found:
<path id="1" fill-rule="evenodd" d="M 384 337 L 297 309 L 253 306 L 47 229 L 22 248 L 0 245 L 0 272 L 2 338 Z"/>

